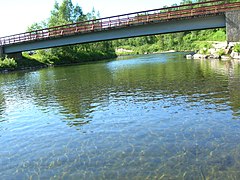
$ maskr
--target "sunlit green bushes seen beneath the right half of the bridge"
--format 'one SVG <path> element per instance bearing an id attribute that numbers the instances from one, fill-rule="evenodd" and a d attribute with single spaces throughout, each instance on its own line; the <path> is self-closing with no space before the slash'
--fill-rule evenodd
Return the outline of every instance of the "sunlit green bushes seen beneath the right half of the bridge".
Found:
<path id="1" fill-rule="evenodd" d="M 175 51 L 197 51 L 209 49 L 212 41 L 226 41 L 224 28 L 214 30 L 200 30 L 191 32 L 180 32 L 155 36 L 137 37 L 113 41 L 116 49 L 131 50 L 130 54 L 145 54 L 154 52 Z M 121 55 L 118 53 L 118 55 Z"/>

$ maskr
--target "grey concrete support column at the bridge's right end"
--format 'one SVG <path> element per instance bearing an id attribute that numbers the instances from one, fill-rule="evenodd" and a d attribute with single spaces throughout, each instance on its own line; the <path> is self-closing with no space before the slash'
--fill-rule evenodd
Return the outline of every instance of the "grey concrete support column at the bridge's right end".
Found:
<path id="1" fill-rule="evenodd" d="M 240 11 L 226 12 L 227 41 L 240 42 Z"/>

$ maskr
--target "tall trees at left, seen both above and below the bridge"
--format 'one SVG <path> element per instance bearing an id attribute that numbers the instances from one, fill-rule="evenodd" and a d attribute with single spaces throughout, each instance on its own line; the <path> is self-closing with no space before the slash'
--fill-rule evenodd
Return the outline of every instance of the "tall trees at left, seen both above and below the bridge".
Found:
<path id="1" fill-rule="evenodd" d="M 99 13 L 96 13 L 94 9 L 91 13 L 84 14 L 79 5 L 74 6 L 71 0 L 63 0 L 62 4 L 55 2 L 48 20 L 34 23 L 28 28 L 28 31 L 96 19 L 98 17 Z M 116 57 L 116 54 L 112 42 L 98 42 L 38 50 L 32 56 L 25 53 L 25 57 L 36 59 L 44 64 L 61 65 L 109 59 Z"/>

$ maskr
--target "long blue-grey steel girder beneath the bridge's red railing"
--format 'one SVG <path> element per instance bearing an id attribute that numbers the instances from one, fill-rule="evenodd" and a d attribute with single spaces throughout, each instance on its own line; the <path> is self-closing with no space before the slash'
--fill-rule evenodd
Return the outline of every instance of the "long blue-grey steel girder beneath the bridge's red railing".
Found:
<path id="1" fill-rule="evenodd" d="M 214 16 L 202 16 L 190 19 L 171 20 L 166 22 L 151 23 L 138 26 L 130 26 L 107 31 L 77 34 L 74 36 L 62 36 L 61 38 L 44 41 L 25 42 L 4 46 L 4 53 L 11 54 L 22 51 L 45 49 L 73 44 L 83 44 L 97 41 L 130 38 L 145 35 L 165 34 L 182 31 L 220 28 L 226 26 L 224 14 Z"/>

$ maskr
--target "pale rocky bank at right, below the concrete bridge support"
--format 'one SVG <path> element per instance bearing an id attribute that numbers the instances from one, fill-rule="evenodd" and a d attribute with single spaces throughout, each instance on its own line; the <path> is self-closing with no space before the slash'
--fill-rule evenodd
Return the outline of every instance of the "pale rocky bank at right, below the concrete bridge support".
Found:
<path id="1" fill-rule="evenodd" d="M 212 47 L 210 49 L 203 48 L 195 54 L 189 54 L 187 59 L 221 59 L 230 60 L 236 59 L 240 61 L 240 53 L 234 51 L 234 47 L 238 43 L 227 42 L 211 42 Z"/>

